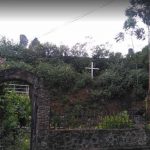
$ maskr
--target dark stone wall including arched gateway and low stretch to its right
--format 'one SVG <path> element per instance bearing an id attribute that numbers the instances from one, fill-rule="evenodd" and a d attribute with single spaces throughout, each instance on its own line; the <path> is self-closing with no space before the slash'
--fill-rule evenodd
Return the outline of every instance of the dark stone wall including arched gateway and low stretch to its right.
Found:
<path id="1" fill-rule="evenodd" d="M 50 100 L 43 80 L 20 69 L 0 71 L 0 83 L 12 80 L 30 85 L 31 150 L 150 150 L 150 131 L 146 130 L 49 131 Z"/>

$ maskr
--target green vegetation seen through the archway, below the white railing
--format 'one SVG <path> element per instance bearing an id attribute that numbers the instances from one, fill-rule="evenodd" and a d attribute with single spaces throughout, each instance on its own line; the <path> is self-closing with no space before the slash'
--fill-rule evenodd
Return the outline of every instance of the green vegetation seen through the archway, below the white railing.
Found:
<path id="1" fill-rule="evenodd" d="M 1 142 L 6 150 L 29 150 L 31 104 L 29 97 L 6 92 L 0 98 Z M 4 142 L 4 143 L 3 143 Z"/>

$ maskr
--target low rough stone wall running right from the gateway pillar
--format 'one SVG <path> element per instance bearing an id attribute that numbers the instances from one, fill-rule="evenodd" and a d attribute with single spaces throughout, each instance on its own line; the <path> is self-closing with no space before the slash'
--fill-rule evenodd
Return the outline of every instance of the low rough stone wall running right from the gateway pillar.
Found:
<path id="1" fill-rule="evenodd" d="M 47 142 L 45 149 L 49 150 L 150 150 L 150 132 L 138 129 L 54 130 L 50 131 Z"/>

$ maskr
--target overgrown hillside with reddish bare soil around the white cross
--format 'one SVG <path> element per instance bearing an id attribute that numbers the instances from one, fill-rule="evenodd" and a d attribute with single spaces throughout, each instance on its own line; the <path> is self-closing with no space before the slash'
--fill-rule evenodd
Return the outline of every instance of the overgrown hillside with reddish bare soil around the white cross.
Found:
<path id="1" fill-rule="evenodd" d="M 0 55 L 4 61 L 1 69 L 21 68 L 43 78 L 54 116 L 80 116 L 89 112 L 105 115 L 145 109 L 147 47 L 137 53 L 130 50 L 126 56 L 101 47 L 91 58 L 82 49 L 77 52 L 51 44 L 25 48 L 2 39 Z M 94 71 L 94 79 L 85 69 L 91 62 L 99 68 Z"/>

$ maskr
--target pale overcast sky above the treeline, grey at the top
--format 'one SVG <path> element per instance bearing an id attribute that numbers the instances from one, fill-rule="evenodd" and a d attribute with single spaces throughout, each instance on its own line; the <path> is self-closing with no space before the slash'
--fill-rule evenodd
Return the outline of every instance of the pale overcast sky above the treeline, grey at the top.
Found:
<path id="1" fill-rule="evenodd" d="M 69 47 L 88 42 L 88 51 L 108 42 L 110 51 L 127 54 L 130 36 L 119 43 L 114 38 L 123 31 L 128 6 L 128 0 L 5 0 L 0 2 L 0 36 L 18 43 L 19 35 L 25 34 L 29 42 L 37 37 L 41 43 Z M 133 43 L 139 51 L 147 41 L 133 38 Z"/>

